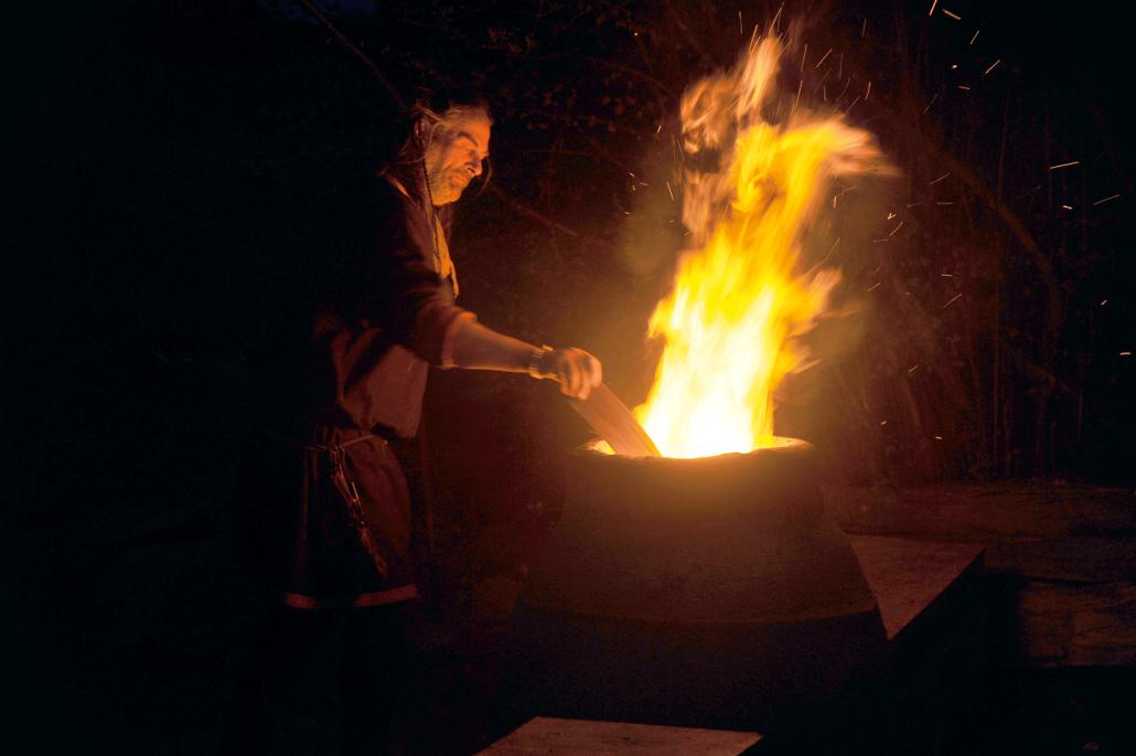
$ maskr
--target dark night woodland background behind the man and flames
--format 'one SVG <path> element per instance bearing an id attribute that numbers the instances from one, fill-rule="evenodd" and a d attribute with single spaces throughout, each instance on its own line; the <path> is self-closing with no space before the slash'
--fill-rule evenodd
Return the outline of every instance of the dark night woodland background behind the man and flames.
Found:
<path id="1" fill-rule="evenodd" d="M 484 90 L 494 180 L 458 214 L 463 304 L 592 350 L 633 405 L 682 248 L 678 98 L 779 3 L 321 7 L 385 82 L 296 3 L 6 14 L 7 649 L 27 722 L 66 699 L 81 729 L 143 717 L 140 742 L 201 753 L 178 733 L 219 711 L 244 606 L 224 546 L 244 356 L 392 139 L 390 88 Z M 822 219 L 853 314 L 813 335 L 778 432 L 817 446 L 827 482 L 1131 482 L 1128 31 L 1105 3 L 929 7 L 784 11 L 784 98 L 847 110 L 903 176 Z M 500 620 L 587 431 L 550 385 L 436 379 L 432 590 Z M 158 678 L 179 682 L 148 693 Z"/>

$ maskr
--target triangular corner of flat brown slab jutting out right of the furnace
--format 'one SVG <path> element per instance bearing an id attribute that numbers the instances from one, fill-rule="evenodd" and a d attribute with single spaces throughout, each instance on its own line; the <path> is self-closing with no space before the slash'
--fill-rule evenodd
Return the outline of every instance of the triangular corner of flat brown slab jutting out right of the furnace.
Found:
<path id="1" fill-rule="evenodd" d="M 976 543 L 941 543 L 887 535 L 850 535 L 887 639 L 894 640 L 976 560 Z"/>

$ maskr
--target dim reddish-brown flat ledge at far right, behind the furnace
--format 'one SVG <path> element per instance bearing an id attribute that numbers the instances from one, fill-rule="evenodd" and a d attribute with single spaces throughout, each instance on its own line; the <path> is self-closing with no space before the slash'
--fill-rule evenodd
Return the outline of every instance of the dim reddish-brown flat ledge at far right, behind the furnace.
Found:
<path id="1" fill-rule="evenodd" d="M 1044 481 L 828 487 L 825 508 L 846 533 L 985 545 L 1001 663 L 1131 666 L 1134 497 L 1131 488 Z"/>

